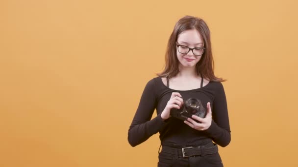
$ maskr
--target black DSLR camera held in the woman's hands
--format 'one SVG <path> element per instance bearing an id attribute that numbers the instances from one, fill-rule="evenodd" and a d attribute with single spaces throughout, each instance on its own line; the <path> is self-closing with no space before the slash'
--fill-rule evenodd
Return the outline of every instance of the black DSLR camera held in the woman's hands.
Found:
<path id="1" fill-rule="evenodd" d="M 186 121 L 187 118 L 191 118 L 192 115 L 205 118 L 206 114 L 206 109 L 197 98 L 189 98 L 183 103 L 180 109 L 172 108 L 170 111 L 171 116 L 183 121 Z"/>

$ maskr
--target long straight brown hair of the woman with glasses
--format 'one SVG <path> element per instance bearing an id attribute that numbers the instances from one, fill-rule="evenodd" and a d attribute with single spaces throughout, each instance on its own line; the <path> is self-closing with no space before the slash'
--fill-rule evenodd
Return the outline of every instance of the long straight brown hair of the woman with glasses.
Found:
<path id="1" fill-rule="evenodd" d="M 157 74 L 161 77 L 168 77 L 173 78 L 176 76 L 179 72 L 179 61 L 176 56 L 176 41 L 178 39 L 178 36 L 186 31 L 196 29 L 199 31 L 203 41 L 204 41 L 204 47 L 206 48 L 201 59 L 196 64 L 196 71 L 197 75 L 202 75 L 203 78 L 208 79 L 209 81 L 215 81 L 215 82 L 223 82 L 222 78 L 217 78 L 214 75 L 214 62 L 212 57 L 212 50 L 211 50 L 211 42 L 210 42 L 210 31 L 202 19 L 193 17 L 193 16 L 185 16 L 181 18 L 174 27 L 174 30 L 170 36 L 167 51 L 165 55 L 165 69 L 163 72 Z"/>

